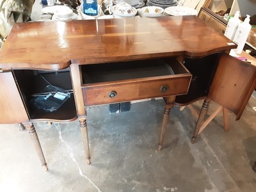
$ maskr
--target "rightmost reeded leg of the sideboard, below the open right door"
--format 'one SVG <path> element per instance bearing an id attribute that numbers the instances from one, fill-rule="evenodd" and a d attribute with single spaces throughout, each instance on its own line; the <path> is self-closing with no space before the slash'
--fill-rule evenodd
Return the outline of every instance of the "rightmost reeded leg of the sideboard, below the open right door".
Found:
<path id="1" fill-rule="evenodd" d="M 198 116 L 198 120 L 196 122 L 196 127 L 195 127 L 195 130 L 194 130 L 194 133 L 193 133 L 193 137 L 192 137 L 191 143 L 195 143 L 196 136 L 198 135 L 200 127 L 201 127 L 202 124 L 204 124 L 204 118 L 205 118 L 205 115 L 208 112 L 210 101 L 211 101 L 210 99 L 205 99 L 204 100 L 204 103 L 202 105 L 200 114 Z"/>

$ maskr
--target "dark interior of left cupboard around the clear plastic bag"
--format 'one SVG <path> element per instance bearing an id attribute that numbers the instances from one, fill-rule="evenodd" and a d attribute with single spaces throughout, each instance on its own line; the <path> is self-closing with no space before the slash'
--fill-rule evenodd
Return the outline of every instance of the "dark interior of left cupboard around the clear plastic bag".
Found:
<path id="1" fill-rule="evenodd" d="M 40 70 L 13 70 L 20 94 L 27 113 L 31 120 L 71 120 L 76 118 L 76 104 L 72 92 L 72 82 L 69 70 L 40 71 Z M 70 98 L 56 111 L 47 112 L 38 109 L 33 102 L 34 97 L 46 97 L 42 92 L 48 85 L 56 86 L 70 93 Z M 54 93 L 53 93 L 54 94 Z"/>

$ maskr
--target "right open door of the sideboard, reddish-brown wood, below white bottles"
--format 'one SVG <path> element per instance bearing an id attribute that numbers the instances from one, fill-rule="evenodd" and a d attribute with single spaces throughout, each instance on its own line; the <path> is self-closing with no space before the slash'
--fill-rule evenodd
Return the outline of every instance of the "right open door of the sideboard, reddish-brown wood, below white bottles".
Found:
<path id="1" fill-rule="evenodd" d="M 255 87 L 256 66 L 223 54 L 208 96 L 239 120 Z"/>

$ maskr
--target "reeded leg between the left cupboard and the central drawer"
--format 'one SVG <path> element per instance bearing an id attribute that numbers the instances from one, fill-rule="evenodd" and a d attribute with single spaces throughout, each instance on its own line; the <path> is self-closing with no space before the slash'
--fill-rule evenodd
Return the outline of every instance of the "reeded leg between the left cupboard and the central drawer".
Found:
<path id="1" fill-rule="evenodd" d="M 89 150 L 89 141 L 88 141 L 88 131 L 87 131 L 87 124 L 86 124 L 86 118 L 79 118 L 79 125 L 80 125 L 80 131 L 83 138 L 83 145 L 84 145 L 84 153 L 86 156 L 87 164 L 90 164 L 90 150 Z"/>

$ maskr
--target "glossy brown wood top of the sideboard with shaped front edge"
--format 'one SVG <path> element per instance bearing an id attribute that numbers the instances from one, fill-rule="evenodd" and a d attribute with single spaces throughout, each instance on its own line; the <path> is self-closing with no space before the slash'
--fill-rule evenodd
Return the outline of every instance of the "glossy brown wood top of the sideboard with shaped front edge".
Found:
<path id="1" fill-rule="evenodd" d="M 14 24 L 0 68 L 56 70 L 162 56 L 200 57 L 236 45 L 195 16 Z"/>

